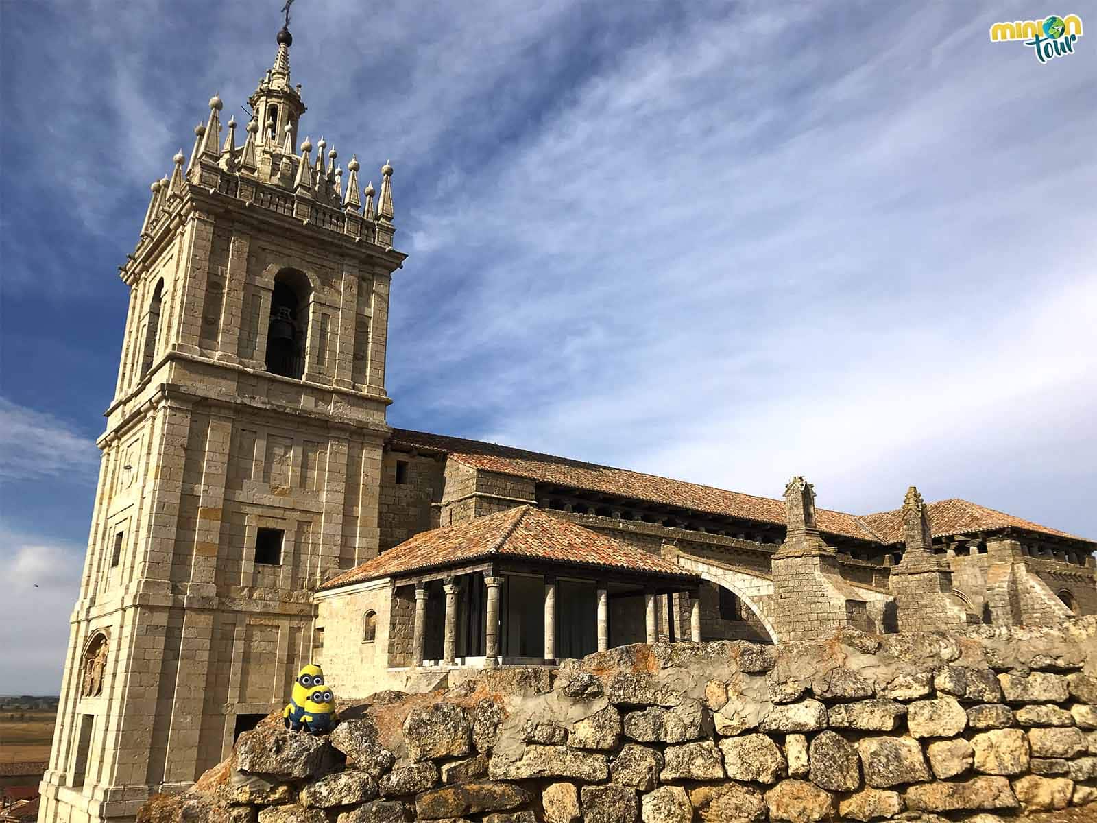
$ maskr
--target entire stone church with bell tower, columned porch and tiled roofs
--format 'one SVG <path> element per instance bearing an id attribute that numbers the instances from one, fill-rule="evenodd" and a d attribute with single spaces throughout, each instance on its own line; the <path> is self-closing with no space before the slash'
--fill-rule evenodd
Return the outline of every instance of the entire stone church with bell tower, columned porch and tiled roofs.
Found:
<path id="1" fill-rule="evenodd" d="M 120 269 L 41 823 L 185 789 L 308 662 L 353 698 L 635 642 L 1097 611 L 1093 541 L 913 486 L 858 516 L 800 476 L 757 497 L 389 427 L 393 168 L 363 188 L 308 139 L 292 42 L 242 133 L 210 100 Z"/>

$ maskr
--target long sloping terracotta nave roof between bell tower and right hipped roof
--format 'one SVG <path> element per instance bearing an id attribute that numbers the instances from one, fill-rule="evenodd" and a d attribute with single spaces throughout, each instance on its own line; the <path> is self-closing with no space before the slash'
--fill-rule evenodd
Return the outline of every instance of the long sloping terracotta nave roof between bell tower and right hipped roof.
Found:
<path id="1" fill-rule="evenodd" d="M 555 483 L 698 512 L 784 526 L 784 500 L 769 497 L 756 497 L 713 486 L 658 477 L 654 474 L 632 472 L 627 469 L 612 469 L 552 454 L 512 449 L 508 446 L 428 435 L 408 429 L 394 429 L 393 443 L 444 451 L 464 465 L 499 474 L 529 477 L 539 483 Z M 815 519 L 819 529 L 828 534 L 879 542 L 877 535 L 852 515 L 816 509 Z"/>

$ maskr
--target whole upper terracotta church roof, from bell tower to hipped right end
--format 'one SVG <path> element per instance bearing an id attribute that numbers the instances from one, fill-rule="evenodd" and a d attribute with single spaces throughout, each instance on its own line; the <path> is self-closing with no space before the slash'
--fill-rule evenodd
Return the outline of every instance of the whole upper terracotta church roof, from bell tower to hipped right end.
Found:
<path id="1" fill-rule="evenodd" d="M 409 429 L 394 429 L 393 443 L 406 448 L 441 451 L 464 465 L 499 474 L 528 477 L 538 483 L 598 492 L 615 497 L 676 506 L 698 512 L 755 520 L 784 526 L 784 500 L 728 492 L 686 481 L 658 477 L 627 469 L 613 469 L 579 460 L 514 449 L 509 446 L 466 440 L 443 435 L 430 435 Z M 934 534 L 964 534 L 1013 527 L 1029 531 L 1095 541 L 1040 526 L 1003 511 L 969 500 L 949 499 L 929 504 Z M 858 517 L 842 511 L 816 509 L 815 519 L 826 534 L 856 538 L 873 543 L 891 544 L 903 540 L 902 509 Z"/>

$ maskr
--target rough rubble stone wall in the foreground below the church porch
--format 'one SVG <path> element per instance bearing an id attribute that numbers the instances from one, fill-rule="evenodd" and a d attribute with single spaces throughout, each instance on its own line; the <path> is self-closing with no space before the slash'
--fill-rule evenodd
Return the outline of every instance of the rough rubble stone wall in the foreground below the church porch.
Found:
<path id="1" fill-rule="evenodd" d="M 943 823 L 1065 809 L 1097 800 L 1095 651 L 1097 618 L 635 644 L 380 692 L 341 706 L 330 735 L 272 718 L 138 820 Z"/>

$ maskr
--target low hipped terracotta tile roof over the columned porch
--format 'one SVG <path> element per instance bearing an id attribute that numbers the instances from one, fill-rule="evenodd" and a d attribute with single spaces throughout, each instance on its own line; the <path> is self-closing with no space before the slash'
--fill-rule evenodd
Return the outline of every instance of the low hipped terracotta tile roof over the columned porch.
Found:
<path id="1" fill-rule="evenodd" d="M 547 560 L 566 565 L 645 572 L 683 580 L 695 577 L 657 554 L 619 543 L 533 506 L 518 506 L 420 532 L 373 560 L 332 577 L 320 589 L 490 557 Z"/>

